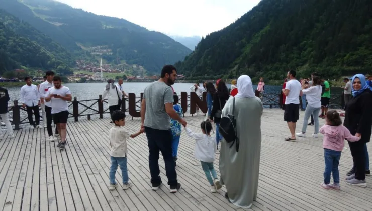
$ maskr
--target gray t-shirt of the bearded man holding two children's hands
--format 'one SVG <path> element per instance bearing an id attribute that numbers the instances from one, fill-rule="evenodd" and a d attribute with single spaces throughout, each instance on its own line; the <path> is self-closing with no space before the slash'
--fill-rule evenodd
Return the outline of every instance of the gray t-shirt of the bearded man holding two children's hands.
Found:
<path id="1" fill-rule="evenodd" d="M 143 98 L 146 100 L 144 126 L 158 129 L 170 129 L 170 117 L 165 111 L 165 104 L 173 104 L 173 90 L 164 82 L 155 81 L 145 88 Z"/>

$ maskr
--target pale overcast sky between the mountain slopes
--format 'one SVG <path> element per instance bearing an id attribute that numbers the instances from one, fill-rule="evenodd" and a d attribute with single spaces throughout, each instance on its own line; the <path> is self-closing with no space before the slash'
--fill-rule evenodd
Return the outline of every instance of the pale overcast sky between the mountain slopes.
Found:
<path id="1" fill-rule="evenodd" d="M 206 36 L 230 25 L 260 0 L 58 0 L 98 15 L 123 18 L 149 30 Z"/>

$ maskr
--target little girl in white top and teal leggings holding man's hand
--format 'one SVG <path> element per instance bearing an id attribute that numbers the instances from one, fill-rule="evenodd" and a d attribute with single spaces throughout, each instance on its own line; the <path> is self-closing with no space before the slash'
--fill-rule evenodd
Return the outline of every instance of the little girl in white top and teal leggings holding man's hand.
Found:
<path id="1" fill-rule="evenodd" d="M 195 158 L 200 160 L 204 173 L 206 174 L 207 180 L 211 185 L 211 192 L 215 193 L 221 189 L 222 185 L 220 180 L 217 178 L 216 171 L 213 167 L 213 161 L 215 160 L 215 153 L 217 151 L 217 145 L 215 137 L 210 135 L 212 130 L 212 124 L 209 121 L 203 121 L 200 125 L 202 133 L 194 133 L 188 127 L 185 127 L 187 134 L 196 140 L 195 145 Z M 211 177 L 211 174 L 213 178 Z"/>

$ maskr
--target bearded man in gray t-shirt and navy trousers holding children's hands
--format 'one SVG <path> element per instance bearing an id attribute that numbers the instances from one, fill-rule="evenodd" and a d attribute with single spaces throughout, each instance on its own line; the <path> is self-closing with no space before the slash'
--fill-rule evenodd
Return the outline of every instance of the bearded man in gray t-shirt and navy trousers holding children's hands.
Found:
<path id="1" fill-rule="evenodd" d="M 163 155 L 165 171 L 170 192 L 175 193 L 181 187 L 177 182 L 177 173 L 172 155 L 172 132 L 170 118 L 183 126 L 187 122 L 173 109 L 173 90 L 177 70 L 172 65 L 165 65 L 160 79 L 145 88 L 141 102 L 141 131 L 146 132 L 149 148 L 149 166 L 152 190 L 158 190 L 163 183 L 160 178 L 159 152 Z"/>

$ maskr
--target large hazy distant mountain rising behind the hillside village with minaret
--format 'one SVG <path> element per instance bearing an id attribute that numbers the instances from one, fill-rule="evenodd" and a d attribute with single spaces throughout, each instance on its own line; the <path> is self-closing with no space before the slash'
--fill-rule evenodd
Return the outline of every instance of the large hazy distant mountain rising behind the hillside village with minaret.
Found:
<path id="1" fill-rule="evenodd" d="M 99 16 L 50 0 L 2 0 L 3 8 L 66 48 L 74 58 L 90 54 L 114 64 L 138 64 L 159 72 L 191 50 L 170 37 L 124 19 Z"/>

